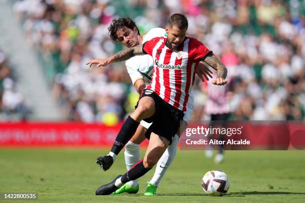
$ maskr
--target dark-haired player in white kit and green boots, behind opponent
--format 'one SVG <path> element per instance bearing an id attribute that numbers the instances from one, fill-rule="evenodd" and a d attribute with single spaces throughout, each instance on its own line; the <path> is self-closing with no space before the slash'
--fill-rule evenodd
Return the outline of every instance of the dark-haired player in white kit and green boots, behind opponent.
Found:
<path id="1" fill-rule="evenodd" d="M 166 37 L 166 32 L 162 28 L 153 28 L 146 35 L 140 36 L 139 29 L 137 28 L 136 23 L 128 18 L 119 18 L 112 21 L 110 26 L 108 27 L 109 35 L 114 43 L 122 43 L 127 47 L 134 47 L 139 44 L 143 44 L 154 37 Z M 133 85 L 135 86 L 137 92 L 141 94 L 142 90 L 146 87 L 144 77 L 152 80 L 152 68 L 153 68 L 153 60 L 150 55 L 141 55 L 134 56 L 131 59 L 126 61 L 126 68 L 130 75 Z M 208 76 L 211 76 L 209 69 L 202 63 L 200 63 L 197 67 L 197 74 L 202 77 L 205 77 L 208 80 Z M 183 117 L 185 122 L 188 122 L 190 115 L 193 109 L 193 96 L 191 100 L 187 103 L 187 111 Z M 145 132 L 150 127 L 151 123 L 145 122 L 142 120 L 140 125 L 131 138 L 131 140 L 125 145 L 125 162 L 128 170 L 132 168 L 132 166 L 140 161 L 140 144 L 146 139 Z M 187 125 L 187 124 L 186 124 Z M 153 196 L 156 194 L 156 189 L 158 187 L 159 182 L 161 181 L 163 175 L 165 174 L 167 168 L 171 164 L 172 160 L 175 157 L 177 151 L 177 145 L 179 142 L 179 134 L 175 134 L 172 138 L 172 143 L 167 147 L 163 155 L 158 161 L 158 164 L 155 169 L 155 173 L 152 177 L 152 180 L 149 182 L 149 185 L 146 189 L 144 195 Z M 113 159 L 109 156 L 110 159 Z M 106 156 L 107 158 L 107 156 Z M 103 166 L 104 157 L 99 157 L 97 163 Z M 111 163 L 111 162 L 108 162 Z M 106 165 L 107 167 L 107 165 Z M 109 166 L 110 167 L 110 166 Z M 122 193 L 137 193 L 139 191 L 138 180 L 130 181 L 126 183 L 124 186 L 119 188 L 114 194 L 122 194 Z"/>

